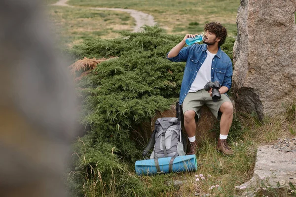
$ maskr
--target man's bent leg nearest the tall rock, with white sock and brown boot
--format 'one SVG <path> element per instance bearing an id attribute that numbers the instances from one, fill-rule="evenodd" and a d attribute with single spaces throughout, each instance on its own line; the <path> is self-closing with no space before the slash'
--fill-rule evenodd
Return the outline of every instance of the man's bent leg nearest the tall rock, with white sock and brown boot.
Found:
<path id="1" fill-rule="evenodd" d="M 222 112 L 220 120 L 220 137 L 218 139 L 217 149 L 225 155 L 232 155 L 233 151 L 228 147 L 226 143 L 227 135 L 232 123 L 233 117 L 233 105 L 231 102 L 223 102 L 220 110 Z"/>

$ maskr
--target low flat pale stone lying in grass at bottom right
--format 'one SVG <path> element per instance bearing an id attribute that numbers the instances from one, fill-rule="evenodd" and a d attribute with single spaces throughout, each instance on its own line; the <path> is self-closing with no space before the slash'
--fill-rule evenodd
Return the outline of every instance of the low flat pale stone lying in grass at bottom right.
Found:
<path id="1" fill-rule="evenodd" d="M 296 151 L 283 152 L 265 145 L 257 150 L 253 177 L 235 188 L 238 193 L 243 191 L 240 196 L 253 197 L 260 187 L 280 189 L 290 188 L 290 184 L 296 186 Z"/>

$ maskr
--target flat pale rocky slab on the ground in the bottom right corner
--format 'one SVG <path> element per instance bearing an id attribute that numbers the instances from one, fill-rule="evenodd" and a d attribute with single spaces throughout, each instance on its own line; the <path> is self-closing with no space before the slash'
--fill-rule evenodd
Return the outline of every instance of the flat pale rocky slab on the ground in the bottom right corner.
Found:
<path id="1" fill-rule="evenodd" d="M 295 187 L 296 138 L 285 138 L 258 148 L 253 177 L 236 189 L 247 197 L 266 194 L 271 189 L 280 195 L 293 196 L 296 195 Z"/>

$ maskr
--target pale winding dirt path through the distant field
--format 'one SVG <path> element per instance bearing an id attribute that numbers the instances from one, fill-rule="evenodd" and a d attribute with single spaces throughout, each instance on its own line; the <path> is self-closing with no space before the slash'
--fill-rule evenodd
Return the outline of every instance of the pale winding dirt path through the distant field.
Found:
<path id="1" fill-rule="evenodd" d="M 52 4 L 52 5 L 59 5 L 59 6 L 67 6 L 67 7 L 77 7 L 73 5 L 67 4 L 68 0 L 59 0 L 58 2 Z M 105 8 L 105 7 L 87 7 L 89 9 L 96 9 L 96 10 L 113 10 L 113 11 L 122 11 L 129 13 L 135 20 L 136 20 L 136 26 L 134 27 L 134 30 L 132 32 L 141 32 L 143 25 L 153 26 L 156 23 L 154 22 L 153 16 L 146 14 L 144 12 L 140 12 L 134 9 L 122 9 L 122 8 Z"/>

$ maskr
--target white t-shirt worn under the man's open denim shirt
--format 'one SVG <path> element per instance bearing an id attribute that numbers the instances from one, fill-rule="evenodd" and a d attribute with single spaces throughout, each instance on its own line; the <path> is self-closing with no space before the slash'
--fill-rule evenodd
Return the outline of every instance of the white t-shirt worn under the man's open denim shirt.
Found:
<path id="1" fill-rule="evenodd" d="M 211 67 L 212 67 L 212 61 L 216 54 L 210 53 L 210 51 L 207 50 L 207 57 L 204 63 L 199 68 L 196 77 L 191 84 L 189 92 L 197 92 L 199 90 L 204 89 L 206 83 L 211 81 Z"/>

